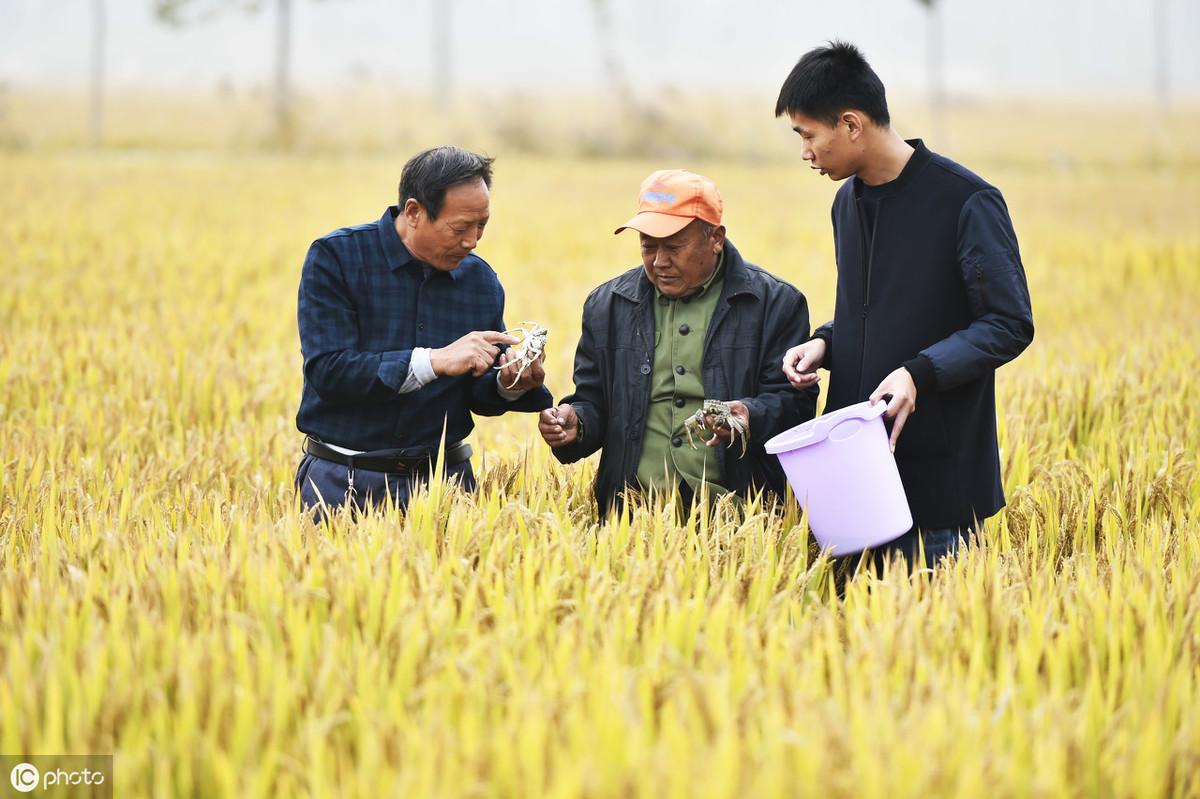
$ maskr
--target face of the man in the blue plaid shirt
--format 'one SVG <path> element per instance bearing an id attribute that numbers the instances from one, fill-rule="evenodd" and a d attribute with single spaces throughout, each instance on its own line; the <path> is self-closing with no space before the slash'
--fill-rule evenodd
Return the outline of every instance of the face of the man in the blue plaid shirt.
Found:
<path id="1" fill-rule="evenodd" d="M 430 266 L 450 271 L 484 238 L 490 202 L 491 193 L 482 180 L 448 188 L 436 220 L 431 220 L 415 200 L 408 200 L 402 216 L 409 226 L 409 251 Z"/>

